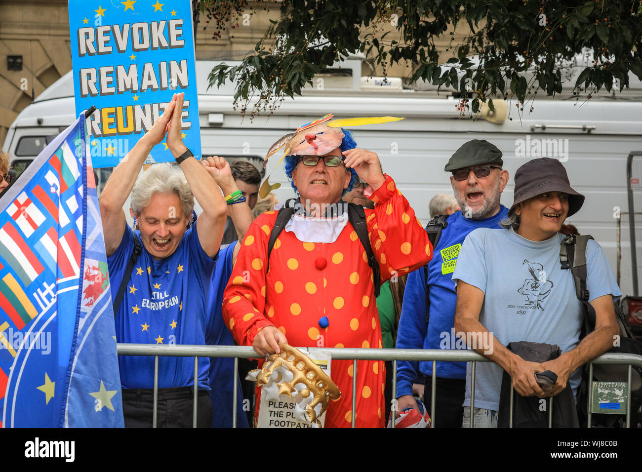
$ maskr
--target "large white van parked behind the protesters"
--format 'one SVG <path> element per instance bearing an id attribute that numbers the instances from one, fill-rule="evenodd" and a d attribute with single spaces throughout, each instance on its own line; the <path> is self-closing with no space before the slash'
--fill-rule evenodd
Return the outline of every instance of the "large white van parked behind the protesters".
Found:
<path id="1" fill-rule="evenodd" d="M 352 60 L 342 63 L 341 71 L 330 71 L 317 80 L 304 96 L 282 101 L 269 119 L 261 116 L 250 122 L 249 117 L 241 120 L 232 110 L 230 85 L 207 90 L 207 74 L 216 64 L 196 61 L 204 155 L 243 158 L 260 166 L 266 151 L 279 137 L 324 114 L 333 113 L 338 118 L 404 116 L 405 121 L 356 127 L 352 132 L 359 146 L 379 154 L 383 170 L 394 177 L 422 223 L 429 220 L 430 198 L 436 193 L 451 193 L 444 166 L 456 148 L 469 139 L 487 139 L 503 152 L 505 168 L 511 175 L 501 199 L 506 206 L 512 203 L 512 177 L 521 164 L 535 157 L 556 157 L 564 162 L 571 186 L 586 195 L 582 211 L 569 218 L 568 223 L 582 234 L 593 235 L 615 273 L 616 216 L 621 214 L 620 286 L 623 293 L 633 292 L 626 163 L 630 152 L 642 152 L 642 101 L 638 101 L 642 100 L 642 86 L 632 75 L 632 89 L 626 93 L 593 98 L 586 103 L 571 94 L 555 100 L 542 97 L 534 101 L 533 112 L 525 109 L 521 119 L 516 105 L 508 103 L 512 119 L 494 123 L 488 115 L 477 120 L 462 118 L 457 109 L 459 100 L 448 91 L 437 95 L 435 91 L 405 90 L 400 80 L 379 81 L 373 86 L 376 80 L 361 80 L 361 62 Z M 575 78 L 569 82 L 574 83 Z M 498 110 L 499 102 L 496 101 Z M 21 171 L 46 146 L 49 136 L 58 134 L 74 119 L 70 72 L 19 114 L 8 131 L 3 150 L 10 154 L 16 170 Z M 270 159 L 268 171 L 279 157 Z M 109 172 L 98 172 L 99 186 Z M 633 177 L 640 179 L 642 175 Z M 275 191 L 279 201 L 293 197 L 282 165 L 270 181 L 282 184 Z M 641 206 L 638 202 L 636 211 Z M 639 216 L 636 227 L 639 252 Z"/>

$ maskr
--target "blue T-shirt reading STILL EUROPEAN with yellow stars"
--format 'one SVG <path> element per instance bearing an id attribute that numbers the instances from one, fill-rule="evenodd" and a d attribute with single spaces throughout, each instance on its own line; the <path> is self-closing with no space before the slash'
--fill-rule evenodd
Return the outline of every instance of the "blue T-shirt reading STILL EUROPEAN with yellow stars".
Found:
<path id="1" fill-rule="evenodd" d="M 140 231 L 135 232 L 140 239 Z M 116 297 L 134 250 L 134 231 L 125 228 L 116 252 L 107 258 L 112 298 Z M 140 344 L 205 344 L 213 323 L 207 291 L 214 270 L 198 241 L 196 225 L 188 229 L 168 258 L 155 260 L 143 250 L 116 313 L 116 340 Z M 119 356 L 123 389 L 153 389 L 153 356 Z M 210 360 L 198 358 L 198 389 L 209 390 Z M 194 358 L 159 357 L 159 388 L 192 387 Z"/>

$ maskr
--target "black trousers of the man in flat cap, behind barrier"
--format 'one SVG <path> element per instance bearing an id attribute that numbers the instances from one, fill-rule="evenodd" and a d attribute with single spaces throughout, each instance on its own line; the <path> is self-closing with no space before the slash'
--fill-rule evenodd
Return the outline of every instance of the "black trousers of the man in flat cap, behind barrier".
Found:
<path id="1" fill-rule="evenodd" d="M 435 377 L 435 426 L 433 428 L 461 428 L 464 419 L 465 379 L 446 379 Z M 430 414 L 433 394 L 433 378 L 426 376 L 424 381 L 424 405 Z M 432 415 L 431 415 L 432 417 Z"/>

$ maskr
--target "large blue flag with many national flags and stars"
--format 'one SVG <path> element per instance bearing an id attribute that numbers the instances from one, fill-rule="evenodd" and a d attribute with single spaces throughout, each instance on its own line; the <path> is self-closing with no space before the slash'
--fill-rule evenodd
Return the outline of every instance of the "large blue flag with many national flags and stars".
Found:
<path id="1" fill-rule="evenodd" d="M 0 198 L 0 421 L 122 427 L 114 313 L 85 118 Z"/>

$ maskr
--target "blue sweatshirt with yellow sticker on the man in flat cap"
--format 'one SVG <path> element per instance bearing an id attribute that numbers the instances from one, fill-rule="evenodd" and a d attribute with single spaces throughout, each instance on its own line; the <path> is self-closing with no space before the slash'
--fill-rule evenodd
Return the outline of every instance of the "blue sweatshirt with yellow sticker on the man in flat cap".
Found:
<path id="1" fill-rule="evenodd" d="M 499 228 L 508 209 L 501 205 L 499 212 L 483 220 L 464 218 L 461 211 L 451 214 L 442 229 L 433 258 L 428 263 L 430 317 L 426 325 L 426 283 L 424 268 L 408 275 L 404 291 L 401 318 L 397 331 L 399 349 L 455 349 L 453 333 L 455 322 L 455 283 L 451 280 L 465 237 L 477 228 Z M 419 362 L 419 371 L 431 376 L 433 363 Z M 464 379 L 465 362 L 437 362 L 437 377 Z M 417 362 L 397 363 L 397 397 L 412 395 L 412 384 L 417 378 Z"/>

